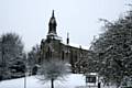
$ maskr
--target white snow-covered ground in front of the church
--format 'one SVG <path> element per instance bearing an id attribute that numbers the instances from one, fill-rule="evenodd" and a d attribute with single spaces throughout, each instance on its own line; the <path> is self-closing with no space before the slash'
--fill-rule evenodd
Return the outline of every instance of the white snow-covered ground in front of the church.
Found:
<path id="1" fill-rule="evenodd" d="M 72 74 L 64 81 L 56 80 L 55 88 L 97 88 L 86 87 L 85 76 Z M 24 88 L 24 78 L 4 80 L 0 82 L 0 88 Z M 26 78 L 26 88 L 51 88 L 51 82 L 43 84 L 36 77 L 30 76 Z M 114 87 L 101 87 L 114 88 Z"/>

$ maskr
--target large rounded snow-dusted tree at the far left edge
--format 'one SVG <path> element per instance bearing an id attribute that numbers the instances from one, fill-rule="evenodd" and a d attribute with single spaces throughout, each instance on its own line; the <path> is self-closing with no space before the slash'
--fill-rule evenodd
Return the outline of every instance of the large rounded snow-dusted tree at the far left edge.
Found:
<path id="1" fill-rule="evenodd" d="M 15 68 L 12 68 L 18 61 L 24 62 L 23 43 L 15 33 L 2 34 L 0 37 L 0 80 L 12 78 L 16 75 Z M 24 63 L 23 63 L 24 64 Z M 19 66 L 19 65 L 18 65 Z M 23 70 L 23 69 L 22 69 Z M 15 72 L 15 73 L 14 73 Z"/>

